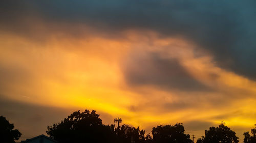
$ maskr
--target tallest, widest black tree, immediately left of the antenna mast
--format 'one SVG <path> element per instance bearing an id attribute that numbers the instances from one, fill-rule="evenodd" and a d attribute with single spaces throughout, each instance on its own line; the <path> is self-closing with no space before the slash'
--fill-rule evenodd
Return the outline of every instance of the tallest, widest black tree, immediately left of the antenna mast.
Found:
<path id="1" fill-rule="evenodd" d="M 46 133 L 60 143 L 112 142 L 114 139 L 113 126 L 103 125 L 96 111 L 88 109 L 75 111 L 60 123 L 48 126 Z"/>

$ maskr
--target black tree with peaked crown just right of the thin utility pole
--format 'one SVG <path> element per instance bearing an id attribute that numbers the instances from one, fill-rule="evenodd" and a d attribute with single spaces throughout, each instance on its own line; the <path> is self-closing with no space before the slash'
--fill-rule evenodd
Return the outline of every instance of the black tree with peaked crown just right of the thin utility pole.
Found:
<path id="1" fill-rule="evenodd" d="M 205 137 L 202 137 L 203 143 L 238 143 L 236 132 L 232 131 L 229 127 L 225 126 L 222 122 L 219 127 L 210 127 L 205 130 Z"/>

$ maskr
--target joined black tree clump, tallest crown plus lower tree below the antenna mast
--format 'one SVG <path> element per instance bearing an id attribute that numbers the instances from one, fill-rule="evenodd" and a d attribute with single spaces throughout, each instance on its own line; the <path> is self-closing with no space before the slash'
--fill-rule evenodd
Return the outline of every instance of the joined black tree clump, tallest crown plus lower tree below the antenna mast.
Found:
<path id="1" fill-rule="evenodd" d="M 150 135 L 146 135 L 144 130 L 139 127 L 130 127 L 129 125 L 122 125 L 115 128 L 115 125 L 103 125 L 99 115 L 95 110 L 90 112 L 75 111 L 68 118 L 65 118 L 60 123 L 48 126 L 46 131 L 51 138 L 60 143 L 66 142 L 122 142 L 130 143 L 144 142 L 151 139 Z"/>

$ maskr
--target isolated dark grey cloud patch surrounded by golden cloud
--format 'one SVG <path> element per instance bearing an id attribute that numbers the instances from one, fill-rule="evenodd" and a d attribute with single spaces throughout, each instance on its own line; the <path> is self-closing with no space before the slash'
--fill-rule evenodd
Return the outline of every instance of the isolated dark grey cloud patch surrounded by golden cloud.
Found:
<path id="1" fill-rule="evenodd" d="M 165 90 L 210 90 L 191 77 L 177 59 L 165 59 L 159 53 L 137 53 L 127 59 L 123 72 L 131 85 L 153 85 Z"/>

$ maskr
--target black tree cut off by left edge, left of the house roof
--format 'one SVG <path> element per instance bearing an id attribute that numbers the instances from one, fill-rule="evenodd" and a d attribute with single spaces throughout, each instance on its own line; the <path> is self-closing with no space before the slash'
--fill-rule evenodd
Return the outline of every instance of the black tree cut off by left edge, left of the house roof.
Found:
<path id="1" fill-rule="evenodd" d="M 5 117 L 0 116 L 0 142 L 15 142 L 22 135 L 17 129 L 13 130 L 14 125 L 10 124 Z"/>

